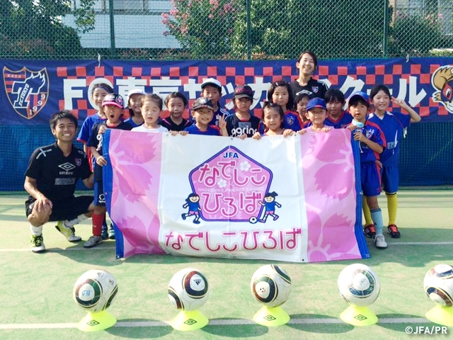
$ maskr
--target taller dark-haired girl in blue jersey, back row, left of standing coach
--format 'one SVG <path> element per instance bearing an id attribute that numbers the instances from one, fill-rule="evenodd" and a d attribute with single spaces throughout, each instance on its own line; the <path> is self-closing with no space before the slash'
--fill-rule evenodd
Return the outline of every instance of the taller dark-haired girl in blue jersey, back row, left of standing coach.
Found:
<path id="1" fill-rule="evenodd" d="M 294 110 L 294 96 L 292 96 L 291 86 L 287 81 L 275 81 L 270 86 L 268 101 L 280 105 L 285 113 L 283 128 L 291 129 L 294 132 L 301 130 L 299 115 L 292 111 Z"/>

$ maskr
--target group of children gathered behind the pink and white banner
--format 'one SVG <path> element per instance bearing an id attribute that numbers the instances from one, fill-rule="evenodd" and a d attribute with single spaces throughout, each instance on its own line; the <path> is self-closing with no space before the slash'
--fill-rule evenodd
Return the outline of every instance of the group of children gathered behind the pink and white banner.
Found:
<path id="1" fill-rule="evenodd" d="M 301 74 L 316 69 L 316 57 L 303 53 L 298 64 Z M 311 57 L 311 59 L 310 59 Z M 307 60 L 308 59 L 308 60 Z M 302 63 L 304 63 L 302 65 Z M 304 79 L 305 79 L 304 78 Z M 306 79 L 307 80 L 307 79 Z M 307 80 L 315 84 L 314 79 Z M 311 81 L 311 83 L 310 83 Z M 301 86 L 298 83 L 299 87 Z M 275 81 L 268 91 L 268 101 L 263 105 L 262 119 L 251 113 L 253 90 L 250 86 L 236 86 L 232 98 L 234 113 L 229 113 L 219 104 L 222 84 L 217 79 L 206 79 L 202 83 L 202 94 L 193 103 L 190 120 L 183 118 L 188 99 L 180 92 L 172 92 L 165 99 L 169 115 L 161 118 L 162 98 L 156 94 L 145 94 L 134 89 L 128 94 L 127 106 L 130 118 L 122 122 L 122 97 L 113 94 L 106 84 L 93 86 L 92 99 L 98 105 L 98 114 L 86 118 L 78 140 L 84 142 L 87 154 L 93 155 L 95 173 L 95 205 L 93 212 L 93 236 L 84 244 L 91 248 L 102 242 L 105 225 L 105 201 L 101 167 L 106 164 L 102 155 L 102 133 L 105 128 L 117 128 L 139 132 L 171 132 L 172 135 L 196 134 L 253 137 L 295 133 L 328 132 L 332 129 L 348 128 L 352 138 L 360 142 L 360 170 L 364 195 L 365 234 L 374 239 L 378 249 L 387 247 L 383 229 L 382 212 L 377 202 L 381 185 L 389 202 L 389 225 L 391 237 L 400 237 L 396 227 L 396 191 L 398 191 L 399 142 L 409 123 L 418 122 L 420 116 L 404 101 L 391 97 L 384 85 L 375 86 L 371 98 L 364 92 L 355 92 L 348 98 L 345 111 L 345 96 L 338 89 L 302 90 L 294 93 L 294 84 L 285 80 Z M 389 113 L 390 103 L 403 108 L 409 114 Z M 371 110 L 373 108 L 373 111 Z M 382 176 L 382 177 L 381 177 Z M 382 178 L 382 182 L 381 182 Z M 105 229 L 105 228 L 104 228 Z M 113 229 L 110 238 L 115 238 Z"/>

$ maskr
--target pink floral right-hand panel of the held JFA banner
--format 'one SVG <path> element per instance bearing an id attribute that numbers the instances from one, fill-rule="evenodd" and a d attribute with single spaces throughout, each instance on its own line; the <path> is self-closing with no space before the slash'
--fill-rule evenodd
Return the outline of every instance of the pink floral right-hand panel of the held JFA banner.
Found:
<path id="1" fill-rule="evenodd" d="M 309 262 L 360 259 L 355 239 L 356 191 L 349 130 L 301 137 Z"/>

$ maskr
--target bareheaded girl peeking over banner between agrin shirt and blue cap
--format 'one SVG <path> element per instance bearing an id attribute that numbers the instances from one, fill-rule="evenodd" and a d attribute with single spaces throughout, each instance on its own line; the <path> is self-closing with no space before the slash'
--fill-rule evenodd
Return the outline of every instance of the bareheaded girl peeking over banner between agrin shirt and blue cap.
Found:
<path id="1" fill-rule="evenodd" d="M 263 124 L 265 130 L 263 133 L 256 132 L 252 136 L 253 139 L 259 140 L 262 136 L 277 136 L 283 135 L 284 137 L 294 135 L 294 131 L 285 129 L 283 122 L 285 120 L 285 113 L 282 107 L 275 103 L 266 101 L 263 106 Z"/>

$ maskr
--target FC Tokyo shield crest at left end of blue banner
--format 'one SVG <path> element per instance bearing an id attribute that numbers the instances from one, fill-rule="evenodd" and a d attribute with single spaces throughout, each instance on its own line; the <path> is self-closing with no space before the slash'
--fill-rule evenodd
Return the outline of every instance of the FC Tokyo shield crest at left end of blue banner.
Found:
<path id="1" fill-rule="evenodd" d="M 26 67 L 13 71 L 3 68 L 3 81 L 9 103 L 23 118 L 32 119 L 49 98 L 49 75 L 45 68 L 31 71 Z"/>

